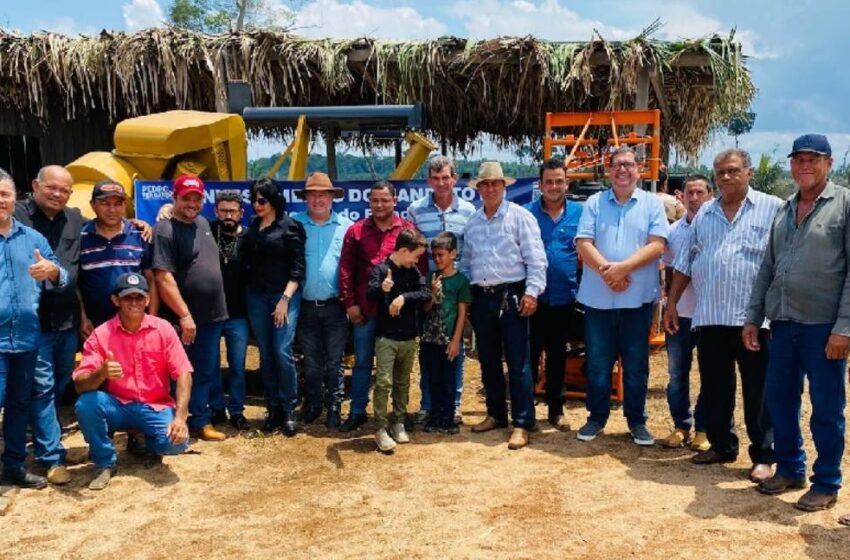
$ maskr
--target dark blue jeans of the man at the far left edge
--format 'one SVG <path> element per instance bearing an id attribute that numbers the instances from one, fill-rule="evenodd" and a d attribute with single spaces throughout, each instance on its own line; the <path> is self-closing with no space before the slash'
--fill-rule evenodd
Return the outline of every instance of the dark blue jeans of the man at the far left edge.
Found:
<path id="1" fill-rule="evenodd" d="M 24 470 L 27 459 L 27 424 L 32 404 L 33 377 L 38 350 L 0 353 L 0 395 L 3 412 L 4 472 Z M 51 401 L 52 402 L 52 401 Z"/>

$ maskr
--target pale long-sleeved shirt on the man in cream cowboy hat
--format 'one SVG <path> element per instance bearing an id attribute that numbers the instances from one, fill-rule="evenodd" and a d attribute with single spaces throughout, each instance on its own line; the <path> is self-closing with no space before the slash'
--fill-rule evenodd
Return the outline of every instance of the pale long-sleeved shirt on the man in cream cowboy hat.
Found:
<path id="1" fill-rule="evenodd" d="M 546 289 L 546 250 L 534 216 L 502 200 L 492 218 L 482 206 L 466 224 L 460 270 L 477 286 L 525 280 L 525 293 L 538 297 Z"/>

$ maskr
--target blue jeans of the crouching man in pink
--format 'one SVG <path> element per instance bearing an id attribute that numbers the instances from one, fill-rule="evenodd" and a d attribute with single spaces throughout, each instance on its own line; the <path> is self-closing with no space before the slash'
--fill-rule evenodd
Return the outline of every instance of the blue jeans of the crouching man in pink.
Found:
<path id="1" fill-rule="evenodd" d="M 145 446 L 156 455 L 179 455 L 189 442 L 175 445 L 168 440 L 168 425 L 174 420 L 174 409 L 156 411 L 149 405 L 121 401 L 103 391 L 89 391 L 77 398 L 77 419 L 89 444 L 89 454 L 101 469 L 114 467 L 115 445 L 109 432 L 136 430 L 145 434 Z"/>

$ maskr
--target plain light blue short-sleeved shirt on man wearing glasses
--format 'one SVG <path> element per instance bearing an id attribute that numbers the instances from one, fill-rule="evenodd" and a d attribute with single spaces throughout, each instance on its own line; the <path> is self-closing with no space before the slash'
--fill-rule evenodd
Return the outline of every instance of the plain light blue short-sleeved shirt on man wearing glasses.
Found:
<path id="1" fill-rule="evenodd" d="M 581 213 L 576 240 L 592 239 L 593 245 L 609 262 L 620 262 L 646 246 L 650 236 L 667 239 L 664 203 L 639 188 L 625 204 L 617 202 L 608 189 L 587 199 Z M 630 274 L 631 284 L 615 292 L 598 272 L 585 267 L 578 289 L 578 301 L 594 309 L 634 309 L 658 299 L 660 281 L 658 260 Z"/>

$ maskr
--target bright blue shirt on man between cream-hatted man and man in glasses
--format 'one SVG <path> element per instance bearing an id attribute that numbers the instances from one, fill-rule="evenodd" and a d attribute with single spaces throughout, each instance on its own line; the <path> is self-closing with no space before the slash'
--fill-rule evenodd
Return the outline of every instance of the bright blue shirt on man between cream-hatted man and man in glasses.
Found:
<path id="1" fill-rule="evenodd" d="M 575 301 L 578 291 L 576 270 L 576 232 L 581 219 L 581 204 L 565 201 L 564 211 L 557 219 L 543 209 L 543 199 L 525 205 L 540 226 L 543 247 L 546 249 L 546 290 L 538 298 L 546 305 L 567 305 Z"/>

